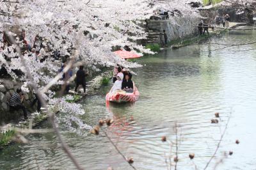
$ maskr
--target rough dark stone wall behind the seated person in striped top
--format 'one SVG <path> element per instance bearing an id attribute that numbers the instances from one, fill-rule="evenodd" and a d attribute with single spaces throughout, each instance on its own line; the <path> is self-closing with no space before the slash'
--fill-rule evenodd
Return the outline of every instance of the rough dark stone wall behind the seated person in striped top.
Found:
<path id="1" fill-rule="evenodd" d="M 23 118 L 23 112 L 21 110 L 10 112 L 9 107 L 10 97 L 16 91 L 16 89 L 20 88 L 21 86 L 22 82 L 11 81 L 10 79 L 0 79 L 0 125 Z M 34 111 L 35 106 L 31 108 L 31 102 L 34 98 L 33 93 L 24 92 L 24 95 L 23 104 L 29 109 L 29 111 Z"/>

